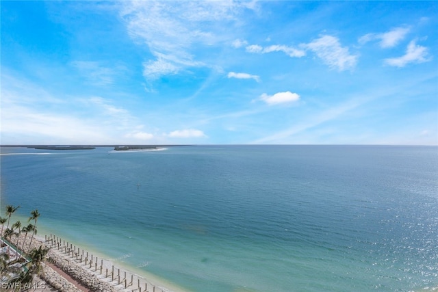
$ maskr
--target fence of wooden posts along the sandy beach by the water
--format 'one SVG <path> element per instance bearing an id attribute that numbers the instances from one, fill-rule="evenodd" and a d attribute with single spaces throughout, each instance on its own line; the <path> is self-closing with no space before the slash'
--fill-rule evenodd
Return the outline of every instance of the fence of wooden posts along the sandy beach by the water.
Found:
<path id="1" fill-rule="evenodd" d="M 93 256 L 93 254 L 81 250 L 73 243 L 68 243 L 60 237 L 52 234 L 44 235 L 44 240 L 57 254 L 82 267 L 84 271 L 96 276 L 102 282 L 110 283 L 118 291 L 167 292 L 145 278 L 115 267 L 112 262 Z"/>

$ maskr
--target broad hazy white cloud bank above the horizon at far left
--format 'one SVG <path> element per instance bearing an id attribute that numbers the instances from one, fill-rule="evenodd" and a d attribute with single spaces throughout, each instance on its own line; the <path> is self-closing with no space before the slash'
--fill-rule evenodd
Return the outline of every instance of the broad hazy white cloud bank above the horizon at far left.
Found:
<path id="1" fill-rule="evenodd" d="M 124 107 L 101 96 L 57 94 L 10 75 L 3 75 L 1 98 L 1 137 L 17 144 L 112 144 L 120 139 L 144 140 L 140 120 Z M 65 96 L 64 96 L 65 97 Z M 128 133 L 128 134 L 127 134 Z"/>

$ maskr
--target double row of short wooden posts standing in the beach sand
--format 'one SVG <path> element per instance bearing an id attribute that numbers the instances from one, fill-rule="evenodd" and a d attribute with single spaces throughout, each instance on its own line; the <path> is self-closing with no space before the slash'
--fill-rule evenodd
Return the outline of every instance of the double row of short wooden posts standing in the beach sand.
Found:
<path id="1" fill-rule="evenodd" d="M 50 246 L 52 248 L 57 248 L 57 250 L 60 250 L 62 252 L 64 252 L 64 254 L 68 254 L 68 256 L 70 256 L 71 253 L 71 258 L 76 259 L 77 261 L 79 261 L 79 263 L 82 263 L 83 261 L 85 262 L 85 265 L 88 266 L 90 265 L 90 269 L 92 269 L 93 267 L 93 263 L 94 263 L 94 271 L 98 271 L 98 264 L 99 263 L 99 259 L 97 258 L 97 256 L 93 257 L 92 254 L 90 254 L 91 258 L 88 256 L 88 252 L 76 248 L 76 245 L 73 245 L 72 243 L 68 243 L 68 241 L 65 241 L 63 239 L 61 239 L 60 237 L 55 237 L 55 235 L 50 234 L 50 236 L 48 237 L 47 235 L 44 235 L 45 237 L 45 241 L 50 243 Z M 114 274 L 114 271 L 117 271 L 117 274 Z M 105 268 L 105 278 L 109 278 L 111 277 L 112 282 L 114 282 L 114 280 L 117 280 L 117 284 L 125 284 L 125 289 L 127 289 L 128 287 L 133 286 L 133 274 L 131 274 L 131 282 L 127 282 L 127 278 L 126 278 L 126 271 L 123 271 L 125 273 L 125 278 L 123 278 L 122 280 L 120 280 L 120 269 L 117 267 L 114 267 L 114 265 L 112 265 L 112 269 L 110 271 L 108 271 L 108 268 Z M 101 275 L 103 275 L 103 259 L 101 258 L 101 265 L 99 267 L 99 273 Z M 152 292 L 155 292 L 155 286 L 151 285 L 153 288 Z M 161 289 L 160 289 L 161 290 Z M 142 287 L 140 287 L 140 278 L 137 279 L 137 288 L 133 289 L 132 292 L 134 291 L 139 291 L 139 292 L 148 292 L 148 284 L 145 281 L 144 283 L 144 290 L 142 290 Z"/>

